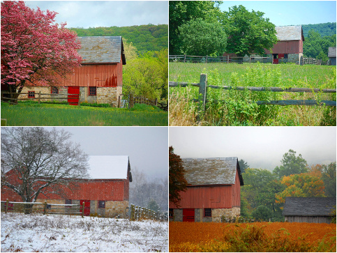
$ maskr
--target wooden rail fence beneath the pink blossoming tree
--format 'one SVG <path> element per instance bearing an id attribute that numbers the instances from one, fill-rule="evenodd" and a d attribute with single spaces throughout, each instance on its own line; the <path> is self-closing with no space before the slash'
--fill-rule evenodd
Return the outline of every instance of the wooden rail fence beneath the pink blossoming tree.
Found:
<path id="1" fill-rule="evenodd" d="M 4 92 L 2 93 L 2 95 L 4 94 L 17 94 L 17 93 L 8 93 L 8 92 Z M 20 93 L 20 95 L 31 95 L 31 93 Z M 37 95 L 37 98 L 36 98 Z M 60 100 L 57 103 L 68 103 L 68 98 L 70 99 L 78 99 L 78 103 L 77 105 L 80 105 L 80 97 L 81 97 L 81 93 L 80 94 L 69 94 L 69 93 L 64 93 L 64 94 L 52 94 L 52 93 L 41 93 L 41 91 L 39 93 L 34 93 L 34 98 L 7 98 L 7 97 L 3 97 L 1 96 L 1 102 L 8 102 L 10 104 L 14 104 L 14 102 L 11 102 L 11 100 L 18 100 L 18 101 L 24 101 L 24 100 L 33 100 L 33 101 L 38 101 L 38 103 L 40 104 L 40 102 L 44 102 L 46 100 L 52 102 L 53 100 Z"/>

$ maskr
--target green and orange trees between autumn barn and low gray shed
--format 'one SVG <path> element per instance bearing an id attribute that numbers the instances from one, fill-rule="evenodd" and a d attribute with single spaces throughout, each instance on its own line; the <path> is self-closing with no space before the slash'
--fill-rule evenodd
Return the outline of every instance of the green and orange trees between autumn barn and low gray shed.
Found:
<path id="1" fill-rule="evenodd" d="M 308 166 L 290 149 L 273 171 L 252 169 L 240 160 L 241 216 L 258 220 L 283 221 L 285 197 L 336 198 L 336 162 Z"/>

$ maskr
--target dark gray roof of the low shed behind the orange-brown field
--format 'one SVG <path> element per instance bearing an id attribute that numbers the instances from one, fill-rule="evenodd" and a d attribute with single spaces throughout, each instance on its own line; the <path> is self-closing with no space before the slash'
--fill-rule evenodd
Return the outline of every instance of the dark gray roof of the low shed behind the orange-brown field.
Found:
<path id="1" fill-rule="evenodd" d="M 287 197 L 282 215 L 329 216 L 336 210 L 336 198 Z"/>

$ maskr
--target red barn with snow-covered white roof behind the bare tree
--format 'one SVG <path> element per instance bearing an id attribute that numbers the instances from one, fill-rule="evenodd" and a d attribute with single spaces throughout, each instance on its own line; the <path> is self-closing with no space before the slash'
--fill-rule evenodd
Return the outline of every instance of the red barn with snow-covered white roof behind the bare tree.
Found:
<path id="1" fill-rule="evenodd" d="M 47 194 L 40 194 L 36 202 L 49 204 L 82 204 L 84 215 L 124 217 L 129 201 L 129 183 L 132 182 L 128 156 L 98 155 L 89 157 L 91 178 L 77 179 L 74 183 L 54 185 Z M 17 181 L 17 176 L 8 177 Z M 21 202 L 18 194 L 3 187 L 1 201 Z"/>

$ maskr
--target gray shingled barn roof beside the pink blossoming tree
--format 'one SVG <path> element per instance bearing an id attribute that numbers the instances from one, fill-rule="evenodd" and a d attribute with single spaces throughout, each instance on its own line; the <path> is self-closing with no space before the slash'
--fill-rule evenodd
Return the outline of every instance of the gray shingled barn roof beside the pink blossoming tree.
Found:
<path id="1" fill-rule="evenodd" d="M 122 59 L 126 64 L 123 40 L 121 36 L 78 37 L 81 49 L 82 63 L 119 63 Z"/>

